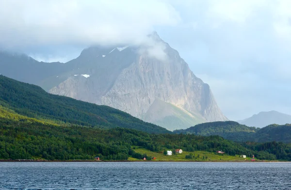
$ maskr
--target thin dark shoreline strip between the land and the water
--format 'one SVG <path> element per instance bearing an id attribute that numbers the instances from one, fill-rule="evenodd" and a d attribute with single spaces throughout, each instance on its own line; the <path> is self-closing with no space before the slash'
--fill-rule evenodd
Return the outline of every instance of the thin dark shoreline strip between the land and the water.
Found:
<path id="1" fill-rule="evenodd" d="M 0 162 L 291 162 L 291 161 L 92 161 L 92 160 L 0 160 Z"/>

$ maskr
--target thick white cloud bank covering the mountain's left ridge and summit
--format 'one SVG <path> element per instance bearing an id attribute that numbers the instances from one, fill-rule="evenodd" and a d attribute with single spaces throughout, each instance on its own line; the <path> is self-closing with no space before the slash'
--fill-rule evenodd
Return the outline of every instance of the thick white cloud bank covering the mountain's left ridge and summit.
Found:
<path id="1" fill-rule="evenodd" d="M 2 0 L 0 45 L 133 43 L 179 19 L 165 0 Z"/>

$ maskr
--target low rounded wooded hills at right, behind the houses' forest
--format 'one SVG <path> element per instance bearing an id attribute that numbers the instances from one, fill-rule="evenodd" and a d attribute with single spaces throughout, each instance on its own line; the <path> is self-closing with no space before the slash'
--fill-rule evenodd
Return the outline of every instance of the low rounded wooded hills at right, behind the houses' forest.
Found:
<path id="1" fill-rule="evenodd" d="M 236 142 L 283 142 L 291 143 L 291 124 L 268 125 L 263 128 L 248 127 L 235 121 L 217 121 L 195 125 L 174 133 L 195 134 L 201 136 L 219 135 Z"/>

